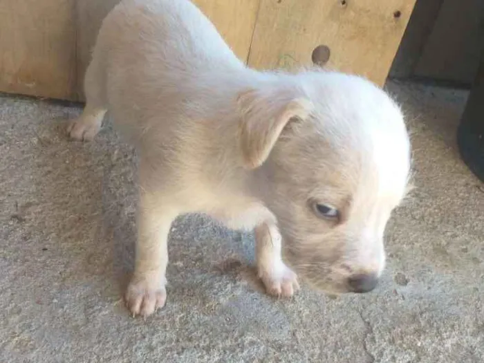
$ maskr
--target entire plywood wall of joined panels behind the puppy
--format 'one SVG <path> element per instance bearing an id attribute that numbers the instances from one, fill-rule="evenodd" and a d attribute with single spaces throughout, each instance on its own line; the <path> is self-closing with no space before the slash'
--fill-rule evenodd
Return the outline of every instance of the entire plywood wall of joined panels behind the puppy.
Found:
<path id="1" fill-rule="evenodd" d="M 120 0 L 0 0 L 0 91 L 82 100 L 102 19 Z M 328 66 L 382 84 L 415 0 L 194 0 L 256 68 Z M 400 17 L 394 17 L 395 11 Z"/>

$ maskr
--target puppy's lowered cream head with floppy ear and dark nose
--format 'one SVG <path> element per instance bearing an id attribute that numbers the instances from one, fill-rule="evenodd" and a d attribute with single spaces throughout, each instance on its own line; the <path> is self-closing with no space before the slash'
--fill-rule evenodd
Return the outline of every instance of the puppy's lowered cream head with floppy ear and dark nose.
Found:
<path id="1" fill-rule="evenodd" d="M 286 262 L 328 292 L 372 290 L 409 178 L 398 106 L 360 77 L 324 72 L 274 76 L 239 104 L 243 162 L 266 180 Z"/>

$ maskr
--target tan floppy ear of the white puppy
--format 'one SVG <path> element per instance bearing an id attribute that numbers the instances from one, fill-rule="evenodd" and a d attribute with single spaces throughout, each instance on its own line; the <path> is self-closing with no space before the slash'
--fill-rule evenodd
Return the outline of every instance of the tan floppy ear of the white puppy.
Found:
<path id="1" fill-rule="evenodd" d="M 308 117 L 313 105 L 304 97 L 267 93 L 251 89 L 237 98 L 240 147 L 248 169 L 260 167 L 268 158 L 288 122 Z"/>

